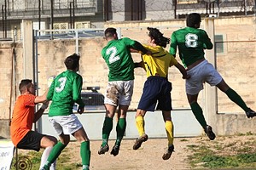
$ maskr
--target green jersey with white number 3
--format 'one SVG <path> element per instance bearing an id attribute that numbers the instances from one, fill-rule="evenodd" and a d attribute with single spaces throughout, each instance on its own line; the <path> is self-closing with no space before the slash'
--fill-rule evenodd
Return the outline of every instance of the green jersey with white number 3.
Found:
<path id="1" fill-rule="evenodd" d="M 47 99 L 52 100 L 49 116 L 67 116 L 73 113 L 74 103 L 84 107 L 81 99 L 83 78 L 74 71 L 64 71 L 51 83 Z"/>

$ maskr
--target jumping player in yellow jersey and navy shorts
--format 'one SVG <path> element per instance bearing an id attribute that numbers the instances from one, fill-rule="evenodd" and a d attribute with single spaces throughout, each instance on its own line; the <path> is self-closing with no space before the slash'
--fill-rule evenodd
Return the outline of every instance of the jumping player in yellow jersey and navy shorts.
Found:
<path id="1" fill-rule="evenodd" d="M 180 65 L 171 54 L 166 51 L 166 45 L 170 42 L 170 38 L 164 37 L 156 28 L 148 27 L 148 45 L 144 45 L 151 55 L 143 54 L 143 68 L 147 71 L 147 81 L 144 83 L 143 95 L 139 101 L 136 113 L 136 126 L 139 138 L 133 145 L 133 150 L 141 147 L 143 142 L 148 140 L 148 135 L 144 129 L 144 116 L 147 111 L 156 109 L 162 111 L 165 122 L 166 134 L 168 139 L 168 149 L 162 156 L 164 160 L 168 160 L 172 156 L 174 150 L 173 145 L 173 124 L 172 124 L 172 83 L 168 81 L 168 69 L 175 65 L 182 73 L 183 78 L 187 77 L 187 72 L 183 65 Z M 139 64 L 137 64 L 139 65 Z"/>

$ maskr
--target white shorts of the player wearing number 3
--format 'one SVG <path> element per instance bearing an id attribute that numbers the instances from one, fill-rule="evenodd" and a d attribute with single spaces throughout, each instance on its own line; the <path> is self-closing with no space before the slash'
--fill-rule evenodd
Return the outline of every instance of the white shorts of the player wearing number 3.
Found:
<path id="1" fill-rule="evenodd" d="M 83 127 L 78 117 L 74 114 L 68 116 L 51 116 L 49 117 L 49 122 L 58 135 L 61 135 L 61 133 L 73 134 Z"/>

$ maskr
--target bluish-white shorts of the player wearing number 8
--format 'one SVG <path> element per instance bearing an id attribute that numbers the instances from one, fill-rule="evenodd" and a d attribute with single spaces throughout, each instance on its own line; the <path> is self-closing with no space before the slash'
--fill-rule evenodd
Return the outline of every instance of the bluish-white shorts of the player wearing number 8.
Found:
<path id="1" fill-rule="evenodd" d="M 190 75 L 190 78 L 186 79 L 186 93 L 190 95 L 199 94 L 203 89 L 204 82 L 207 82 L 211 86 L 216 86 L 222 81 L 222 77 L 218 71 L 216 71 L 207 59 L 195 65 L 187 73 Z"/>

